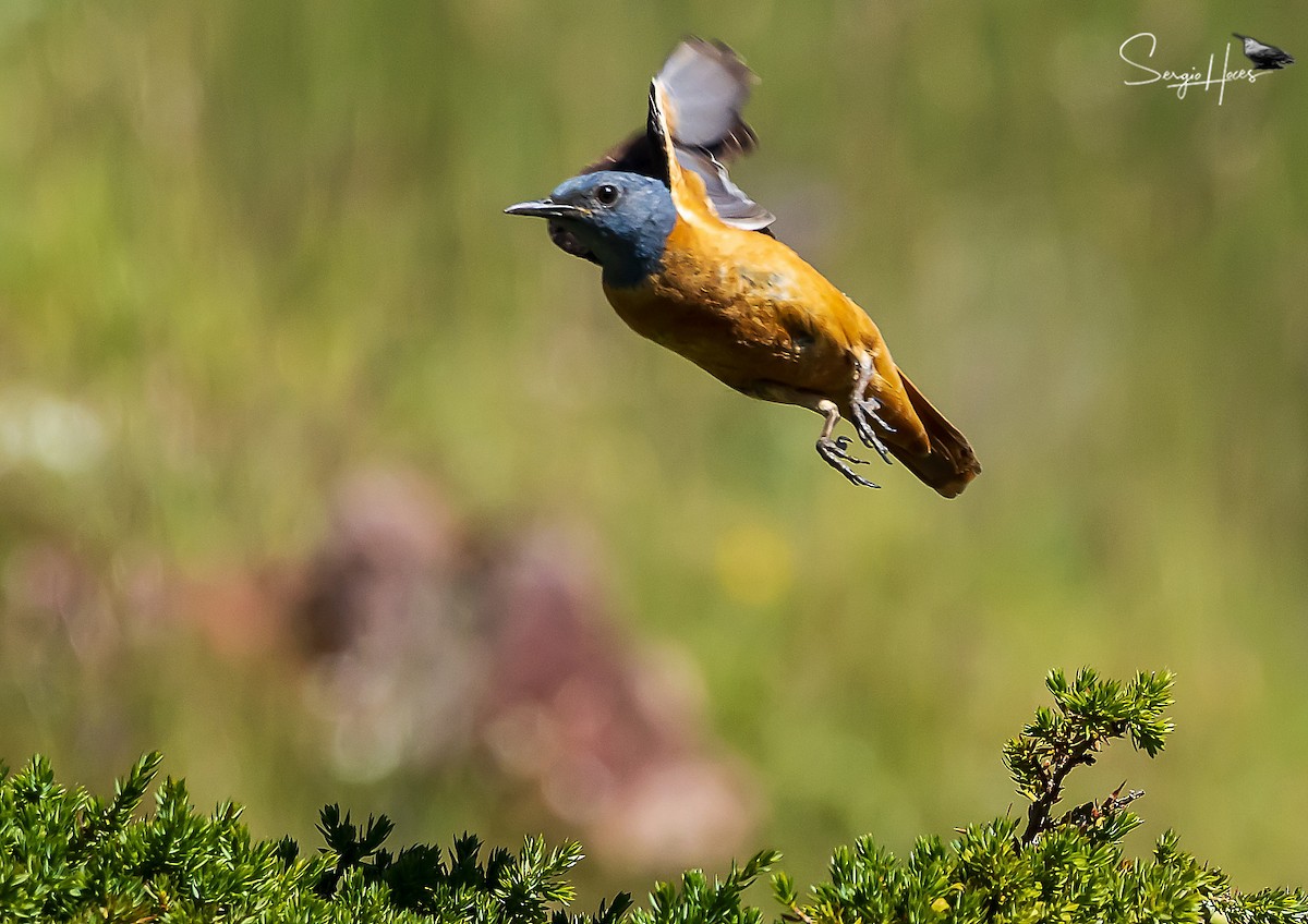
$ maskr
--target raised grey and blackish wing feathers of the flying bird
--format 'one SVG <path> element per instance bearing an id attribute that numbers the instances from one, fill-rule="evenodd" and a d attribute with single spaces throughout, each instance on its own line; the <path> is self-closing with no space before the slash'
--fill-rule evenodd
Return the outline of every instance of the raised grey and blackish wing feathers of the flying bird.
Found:
<path id="1" fill-rule="evenodd" d="M 757 78 L 722 42 L 684 39 L 668 55 L 654 84 L 662 88 L 662 112 L 676 128 L 664 136 L 666 119 L 655 111 L 653 88 L 644 132 L 633 135 L 582 173 L 625 170 L 670 183 L 668 159 L 704 180 L 705 195 L 722 221 L 747 231 L 765 231 L 776 221 L 731 182 L 726 163 L 757 145 L 753 129 L 740 116 Z M 664 150 L 671 139 L 672 153 Z M 766 233 L 766 231 L 765 231 Z"/>

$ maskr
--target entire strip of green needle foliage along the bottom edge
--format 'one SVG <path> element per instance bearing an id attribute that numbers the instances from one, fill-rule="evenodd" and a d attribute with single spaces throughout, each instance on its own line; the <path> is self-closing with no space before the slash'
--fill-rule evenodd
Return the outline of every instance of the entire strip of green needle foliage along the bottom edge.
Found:
<path id="1" fill-rule="evenodd" d="M 1054 710 L 1005 746 L 1019 792 L 1032 802 L 1025 830 L 1014 818 L 973 825 L 946 844 L 918 839 L 905 859 L 871 836 L 835 851 L 829 881 L 800 894 L 790 876 L 773 893 L 790 924 L 872 921 L 1308 921 L 1303 891 L 1241 895 L 1224 873 L 1201 864 L 1167 833 L 1148 857 L 1125 855 L 1122 838 L 1138 818 L 1121 791 L 1054 818 L 1067 775 L 1117 738 L 1156 755 L 1172 729 L 1169 673 L 1137 674 L 1122 685 L 1082 670 L 1069 682 L 1053 672 Z M 528 838 L 518 853 L 492 850 L 468 834 L 447 853 L 415 844 L 383 848 L 385 816 L 354 825 L 336 805 L 322 810 L 326 847 L 300 859 L 290 839 L 251 843 L 239 809 L 211 817 L 167 779 L 153 817 L 136 818 L 160 765 L 137 762 L 105 804 L 55 783 L 44 758 L 5 772 L 0 787 L 0 916 L 73 921 L 477 921 L 485 924 L 760 924 L 764 911 L 746 890 L 780 859 L 764 851 L 725 878 L 692 870 L 679 885 L 658 883 L 649 907 L 617 895 L 586 916 L 569 914 L 566 876 L 581 848 L 549 850 Z"/>

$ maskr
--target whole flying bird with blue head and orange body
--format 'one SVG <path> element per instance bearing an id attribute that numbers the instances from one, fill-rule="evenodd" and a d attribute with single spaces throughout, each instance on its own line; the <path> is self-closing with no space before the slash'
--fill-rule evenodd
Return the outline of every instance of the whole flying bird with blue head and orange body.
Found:
<path id="1" fill-rule="evenodd" d="M 956 497 L 981 472 L 967 438 L 867 312 L 778 240 L 774 216 L 727 175 L 757 142 L 740 116 L 755 81 L 725 43 L 684 39 L 650 82 L 644 131 L 505 212 L 548 220 L 560 248 L 599 264 L 636 333 L 743 395 L 820 414 L 818 455 L 852 484 L 880 486 L 835 435 L 842 420 L 883 461 Z"/>

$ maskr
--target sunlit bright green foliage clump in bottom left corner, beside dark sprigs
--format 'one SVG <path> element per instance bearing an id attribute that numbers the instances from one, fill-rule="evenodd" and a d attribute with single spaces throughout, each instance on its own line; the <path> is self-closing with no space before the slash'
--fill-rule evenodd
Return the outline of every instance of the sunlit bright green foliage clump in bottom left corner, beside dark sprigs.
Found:
<path id="1" fill-rule="evenodd" d="M 0 788 L 0 910 L 5 920 L 186 921 L 281 915 L 310 920 L 305 897 L 324 863 L 288 864 L 277 843 L 251 843 L 241 810 L 211 817 L 166 779 L 154 814 L 136 819 L 160 765 L 146 754 L 107 805 L 55 783 L 35 757 Z"/>

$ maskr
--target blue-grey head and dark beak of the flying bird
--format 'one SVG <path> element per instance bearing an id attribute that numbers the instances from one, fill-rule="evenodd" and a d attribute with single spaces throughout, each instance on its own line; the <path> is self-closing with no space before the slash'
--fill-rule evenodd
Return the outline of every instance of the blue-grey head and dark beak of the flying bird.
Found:
<path id="1" fill-rule="evenodd" d="M 655 272 L 676 223 L 662 180 L 615 170 L 573 176 L 548 199 L 505 212 L 548 218 L 555 242 L 577 256 L 593 256 L 612 286 L 632 286 Z"/>

